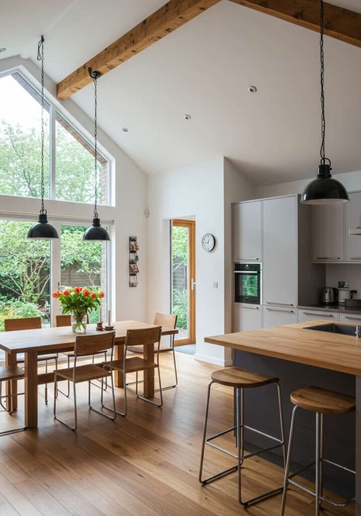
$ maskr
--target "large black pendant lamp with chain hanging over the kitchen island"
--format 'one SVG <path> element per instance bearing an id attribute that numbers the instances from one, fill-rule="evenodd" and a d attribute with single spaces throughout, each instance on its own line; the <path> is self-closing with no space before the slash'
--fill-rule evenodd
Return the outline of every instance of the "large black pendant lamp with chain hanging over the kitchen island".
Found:
<path id="1" fill-rule="evenodd" d="M 349 201 L 344 186 L 332 178 L 331 161 L 325 156 L 325 99 L 324 99 L 324 62 L 323 62 L 323 0 L 320 0 L 320 60 L 321 60 L 321 162 L 317 178 L 311 181 L 301 196 L 303 204 L 335 204 Z"/>

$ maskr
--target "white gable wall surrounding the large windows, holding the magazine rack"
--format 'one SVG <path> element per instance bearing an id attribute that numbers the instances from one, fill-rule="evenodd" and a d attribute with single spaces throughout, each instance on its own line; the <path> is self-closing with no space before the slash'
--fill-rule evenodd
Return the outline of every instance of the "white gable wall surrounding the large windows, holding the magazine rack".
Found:
<path id="1" fill-rule="evenodd" d="M 38 82 L 40 88 L 40 70 L 30 60 L 20 57 L 0 60 L 0 73 L 21 67 L 24 76 L 32 82 Z M 45 76 L 45 94 L 52 96 L 62 112 L 75 127 L 80 126 L 83 134 L 93 141 L 93 121 L 72 100 L 59 101 L 56 99 L 56 84 Z M 98 111 L 101 105 L 101 83 L 98 85 Z M 111 197 L 114 206 L 99 206 L 101 220 L 114 221 L 111 241 L 112 254 L 112 311 L 119 319 L 146 319 L 146 263 L 147 263 L 147 222 L 144 209 L 147 203 L 147 177 L 144 172 L 98 127 L 97 136 L 99 148 L 113 158 L 113 178 L 111 182 Z M 65 216 L 68 219 L 84 218 L 91 222 L 92 207 L 89 204 L 70 203 L 47 200 L 48 219 L 52 216 Z M 39 200 L 32 198 L 17 198 L 2 196 L 0 215 L 5 213 L 34 215 L 39 213 Z M 54 220 L 54 218 L 53 218 Z M 56 219 L 55 219 L 56 220 Z M 139 251 L 139 286 L 129 287 L 129 235 L 137 235 Z"/>

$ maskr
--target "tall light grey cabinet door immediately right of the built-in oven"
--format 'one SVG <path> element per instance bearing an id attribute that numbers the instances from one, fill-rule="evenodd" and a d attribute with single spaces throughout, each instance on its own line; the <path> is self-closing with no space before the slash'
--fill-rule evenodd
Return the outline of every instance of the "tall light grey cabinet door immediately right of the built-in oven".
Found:
<path id="1" fill-rule="evenodd" d="M 297 196 L 263 201 L 262 304 L 297 306 Z"/>

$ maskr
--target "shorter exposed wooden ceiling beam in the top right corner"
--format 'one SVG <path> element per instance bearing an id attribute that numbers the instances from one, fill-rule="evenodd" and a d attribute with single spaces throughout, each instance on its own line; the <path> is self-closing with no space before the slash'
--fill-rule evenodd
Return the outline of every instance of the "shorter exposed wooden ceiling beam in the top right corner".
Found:
<path id="1" fill-rule="evenodd" d="M 320 30 L 320 0 L 231 0 L 306 27 Z M 361 14 L 324 3 L 324 33 L 345 43 L 361 47 Z"/>

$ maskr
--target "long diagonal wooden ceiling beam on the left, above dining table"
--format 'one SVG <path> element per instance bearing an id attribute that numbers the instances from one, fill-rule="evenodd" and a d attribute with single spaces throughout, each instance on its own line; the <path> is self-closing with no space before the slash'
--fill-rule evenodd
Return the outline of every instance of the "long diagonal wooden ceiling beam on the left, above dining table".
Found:
<path id="1" fill-rule="evenodd" d="M 67 99 L 91 83 L 89 67 L 104 75 L 218 2 L 220 0 L 170 0 L 129 30 L 127 34 L 61 80 L 57 85 L 58 98 Z"/>

